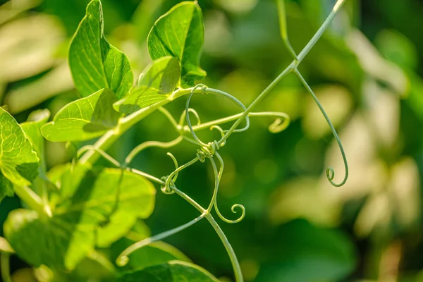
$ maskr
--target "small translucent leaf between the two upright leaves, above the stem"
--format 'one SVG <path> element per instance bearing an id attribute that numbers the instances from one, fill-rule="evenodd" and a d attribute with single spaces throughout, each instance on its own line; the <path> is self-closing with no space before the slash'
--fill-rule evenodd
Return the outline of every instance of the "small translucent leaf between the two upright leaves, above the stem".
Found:
<path id="1" fill-rule="evenodd" d="M 114 104 L 114 109 L 124 114 L 151 106 L 168 98 L 178 85 L 180 69 L 178 60 L 166 56 L 153 61 L 142 71 L 138 87 Z"/>

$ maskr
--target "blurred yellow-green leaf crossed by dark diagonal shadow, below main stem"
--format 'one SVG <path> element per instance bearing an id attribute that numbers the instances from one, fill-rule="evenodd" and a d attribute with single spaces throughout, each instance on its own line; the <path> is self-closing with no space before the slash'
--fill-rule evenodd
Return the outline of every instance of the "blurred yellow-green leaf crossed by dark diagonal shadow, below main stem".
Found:
<path id="1" fill-rule="evenodd" d="M 72 177 L 68 180 L 78 182 Z M 68 187 L 75 188 L 73 185 Z M 85 222 L 106 221 L 116 211 L 145 219 L 153 212 L 155 194 L 152 183 L 142 176 L 130 171 L 123 171 L 122 175 L 120 169 L 104 168 L 98 176 L 88 171 L 74 192 L 66 191 L 66 199 L 56 212 L 84 212 L 80 220 Z"/>

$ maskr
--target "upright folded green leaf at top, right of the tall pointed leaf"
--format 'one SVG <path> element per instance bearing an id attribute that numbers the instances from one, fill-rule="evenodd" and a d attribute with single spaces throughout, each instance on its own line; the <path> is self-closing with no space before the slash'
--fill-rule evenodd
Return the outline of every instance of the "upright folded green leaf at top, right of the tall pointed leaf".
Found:
<path id="1" fill-rule="evenodd" d="M 200 56 L 204 44 L 202 11 L 196 2 L 182 2 L 154 23 L 147 38 L 148 52 L 152 60 L 164 56 L 178 59 L 182 87 L 195 85 L 206 72 L 200 68 Z"/>

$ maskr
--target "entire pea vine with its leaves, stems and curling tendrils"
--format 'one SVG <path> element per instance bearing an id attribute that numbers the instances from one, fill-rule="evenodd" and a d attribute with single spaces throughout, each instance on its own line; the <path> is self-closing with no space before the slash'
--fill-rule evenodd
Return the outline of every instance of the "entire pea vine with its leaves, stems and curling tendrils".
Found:
<path id="1" fill-rule="evenodd" d="M 336 1 L 314 37 L 297 53 L 288 38 L 284 1 L 277 0 L 281 37 L 293 61 L 249 106 L 245 106 L 231 94 L 196 83 L 206 75 L 200 68 L 204 26 L 197 1 L 185 1 L 174 6 L 154 23 L 147 39 L 149 55 L 153 61 L 133 86 L 133 73 L 128 58 L 104 38 L 102 6 L 99 0 L 92 0 L 69 49 L 73 80 L 82 98 L 64 106 L 49 123 L 47 110 L 35 112 L 29 121 L 21 125 L 6 111 L 0 111 L 0 199 L 13 196 L 13 192 L 16 192 L 29 207 L 11 212 L 4 225 L 7 241 L 0 241 L 3 280 L 11 281 L 8 257 L 14 252 L 38 269 L 42 266 L 51 269 L 56 281 L 63 281 L 64 273 L 75 269 L 84 257 L 116 272 L 114 264 L 101 252 L 97 252 L 95 247 L 109 247 L 124 237 L 137 219 L 145 219 L 152 213 L 152 183 L 156 183 L 161 192 L 183 198 L 200 212 L 200 216 L 164 233 L 147 238 L 141 236 L 141 240 L 121 250 L 120 255 L 115 258 L 116 265 L 125 268 L 132 261 L 131 255 L 135 251 L 206 219 L 228 252 L 235 281 L 242 282 L 243 274 L 233 247 L 212 215 L 214 210 L 219 219 L 226 223 L 238 223 L 245 217 L 245 207 L 242 204 L 232 206 L 231 211 L 234 214 L 240 213 L 235 219 L 228 219 L 219 210 L 217 198 L 224 171 L 224 161 L 219 152 L 233 133 L 242 133 L 250 127 L 250 118 L 275 118 L 274 123 L 269 126 L 271 133 L 280 133 L 288 127 L 290 118 L 285 113 L 253 110 L 283 78 L 294 73 L 319 106 L 341 149 L 345 176 L 341 183 L 334 182 L 335 172 L 329 167 L 326 169 L 327 178 L 336 187 L 345 183 L 348 178 L 348 163 L 341 140 L 312 88 L 298 70 L 300 63 L 324 34 L 344 2 L 345 0 Z M 215 95 L 228 99 L 240 108 L 240 114 L 202 123 L 200 115 L 190 106 L 194 95 Z M 164 106 L 184 96 L 185 109 L 176 119 Z M 123 163 L 106 152 L 123 133 L 154 111 L 159 111 L 167 118 L 178 137 L 168 142 L 144 142 L 135 147 Z M 195 118 L 195 122 L 192 118 Z M 232 124 L 228 129 L 223 129 L 222 126 L 227 123 Z M 208 142 L 200 140 L 197 132 L 206 129 L 216 130 L 220 138 Z M 68 142 L 68 145 L 75 147 L 77 152 L 72 163 L 46 171 L 43 137 L 51 142 Z M 99 139 L 94 145 L 78 149 L 75 143 L 96 137 Z M 145 149 L 169 149 L 182 142 L 197 146 L 195 157 L 180 165 L 173 154 L 168 152 L 175 169 L 166 176 L 158 178 L 131 167 L 133 159 Z M 112 168 L 94 166 L 100 157 L 108 161 Z M 214 172 L 214 191 L 207 207 L 202 207 L 177 187 L 178 174 L 197 162 L 209 162 Z M 123 217 L 133 221 L 119 226 L 123 224 L 119 221 Z M 45 250 L 41 250 L 42 248 Z M 178 259 L 178 256 L 175 257 Z M 179 260 L 181 259 L 137 265 L 129 269 L 130 271 L 121 271 L 116 279 L 133 281 L 130 279 L 137 278 L 144 281 L 142 277 L 149 277 L 147 275 L 154 271 L 157 274 L 162 273 L 163 269 L 178 269 L 178 273 L 187 275 L 185 278 L 191 279 L 190 281 L 194 281 L 194 278 L 217 281 L 199 266 Z M 167 279 L 166 281 L 174 281 L 172 278 Z"/>

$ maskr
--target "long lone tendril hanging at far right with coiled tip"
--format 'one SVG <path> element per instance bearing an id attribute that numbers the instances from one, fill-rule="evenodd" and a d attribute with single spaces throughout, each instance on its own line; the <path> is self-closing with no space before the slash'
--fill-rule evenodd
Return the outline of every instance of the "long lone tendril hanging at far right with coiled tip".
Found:
<path id="1" fill-rule="evenodd" d="M 301 75 L 300 71 L 298 71 L 298 69 L 295 69 L 295 73 L 297 74 L 298 78 L 300 78 L 302 84 L 305 86 L 307 91 L 310 94 L 312 94 L 314 102 L 316 102 L 317 106 L 319 106 L 321 114 L 323 114 L 324 118 L 326 119 L 326 122 L 328 123 L 329 127 L 331 128 L 333 137 L 335 137 L 336 142 L 338 143 L 338 147 L 341 150 L 342 159 L 343 159 L 343 163 L 344 163 L 344 167 L 345 167 L 345 176 L 344 176 L 342 182 L 338 183 L 338 184 L 333 182 L 333 178 L 335 178 L 335 171 L 331 167 L 326 168 L 326 177 L 328 178 L 331 185 L 333 185 L 335 187 L 341 187 L 342 185 L 344 185 L 347 182 L 347 179 L 348 179 L 348 161 L 347 161 L 347 157 L 345 156 L 345 151 L 343 149 L 342 142 L 339 139 L 338 133 L 336 133 L 336 129 L 333 127 L 333 124 L 332 124 L 331 120 L 329 119 L 329 116 L 326 114 L 326 111 L 324 111 L 323 106 L 321 106 L 319 99 L 317 99 L 317 97 L 316 97 L 316 94 L 314 94 L 312 87 L 309 86 L 309 84 L 307 83 L 305 78 L 302 77 L 302 75 Z"/>

